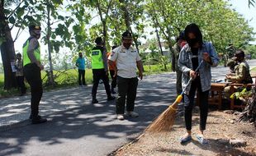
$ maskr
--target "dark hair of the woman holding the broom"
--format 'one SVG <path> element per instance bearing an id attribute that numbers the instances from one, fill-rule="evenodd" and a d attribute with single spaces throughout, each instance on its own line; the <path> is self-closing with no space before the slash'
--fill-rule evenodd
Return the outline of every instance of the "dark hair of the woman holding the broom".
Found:
<path id="1" fill-rule="evenodd" d="M 199 29 L 198 25 L 196 25 L 195 23 L 189 24 L 186 26 L 185 28 L 185 39 L 188 41 L 189 37 L 188 34 L 192 33 L 195 34 L 196 39 L 198 40 L 200 46 L 202 44 L 202 34 L 201 34 L 201 30 Z"/>

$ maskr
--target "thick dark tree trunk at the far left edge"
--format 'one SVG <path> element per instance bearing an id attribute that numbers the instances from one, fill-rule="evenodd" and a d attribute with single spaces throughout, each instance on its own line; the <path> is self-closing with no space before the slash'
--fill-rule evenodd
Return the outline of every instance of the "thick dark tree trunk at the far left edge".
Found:
<path id="1" fill-rule="evenodd" d="M 17 86 L 15 72 L 12 72 L 11 62 L 15 62 L 15 50 L 11 30 L 3 12 L 3 1 L 0 3 L 0 42 L 2 65 L 4 71 L 4 89 Z"/>

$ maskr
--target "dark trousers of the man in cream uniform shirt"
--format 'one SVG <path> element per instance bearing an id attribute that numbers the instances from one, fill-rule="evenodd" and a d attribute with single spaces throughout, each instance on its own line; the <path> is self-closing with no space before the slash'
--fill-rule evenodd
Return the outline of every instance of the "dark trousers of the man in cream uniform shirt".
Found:
<path id="1" fill-rule="evenodd" d="M 138 78 L 123 78 L 117 76 L 118 97 L 116 99 L 116 114 L 132 112 L 135 108 L 135 99 L 137 94 Z"/>

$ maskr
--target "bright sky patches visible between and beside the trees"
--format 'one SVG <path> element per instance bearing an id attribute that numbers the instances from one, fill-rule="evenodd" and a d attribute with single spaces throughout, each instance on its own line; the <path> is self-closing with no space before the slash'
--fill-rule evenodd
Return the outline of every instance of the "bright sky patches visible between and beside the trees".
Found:
<path id="1" fill-rule="evenodd" d="M 232 8 L 238 11 L 246 20 L 249 21 L 249 25 L 254 28 L 254 32 L 256 32 L 256 5 L 255 7 L 248 7 L 248 0 L 230 0 L 232 4 Z M 16 36 L 17 29 L 12 31 L 12 38 L 14 39 Z M 29 37 L 28 30 L 23 30 L 21 36 L 17 39 L 14 46 L 17 52 L 22 52 L 22 44 L 24 43 L 24 39 Z M 256 38 L 256 36 L 255 36 Z M 256 41 L 251 44 L 256 44 Z M 41 52 L 45 53 L 46 46 L 41 45 Z M 0 55 L 0 62 L 2 62 L 2 58 Z"/>

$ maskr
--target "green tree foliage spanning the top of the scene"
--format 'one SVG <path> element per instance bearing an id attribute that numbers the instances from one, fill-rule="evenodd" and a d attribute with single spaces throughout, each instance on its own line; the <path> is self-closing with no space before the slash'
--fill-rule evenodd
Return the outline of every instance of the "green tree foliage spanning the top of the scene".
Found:
<path id="1" fill-rule="evenodd" d="M 224 0 L 16 0 L 3 1 L 4 16 L 10 31 L 19 31 L 31 23 L 43 27 L 42 39 L 52 53 L 61 47 L 73 55 L 78 52 L 89 56 L 97 36 L 103 36 L 106 47 L 121 44 L 121 33 L 130 30 L 135 45 L 148 39 L 149 31 L 159 30 L 160 40 L 171 51 L 176 36 L 189 23 L 201 27 L 204 39 L 211 41 L 218 53 L 224 53 L 227 44 L 244 48 L 253 40 L 253 28 L 244 17 L 231 9 Z M 249 0 L 254 6 L 254 0 Z M 47 16 L 50 9 L 50 17 Z M 50 23 L 49 21 L 50 20 Z M 50 25 L 50 26 L 49 26 Z M 153 28 L 149 29 L 149 28 Z M 0 36 L 0 44 L 5 38 Z M 157 41 L 156 41 L 157 42 Z M 50 55 L 50 54 L 49 54 Z"/>

